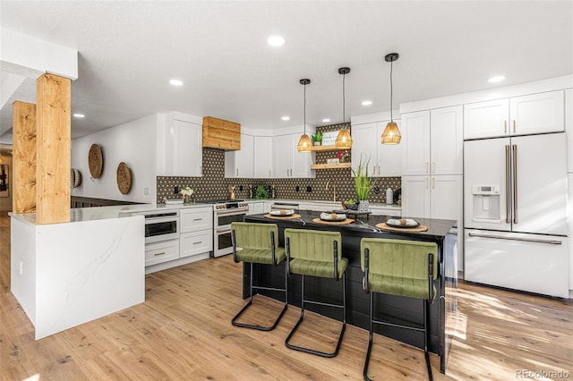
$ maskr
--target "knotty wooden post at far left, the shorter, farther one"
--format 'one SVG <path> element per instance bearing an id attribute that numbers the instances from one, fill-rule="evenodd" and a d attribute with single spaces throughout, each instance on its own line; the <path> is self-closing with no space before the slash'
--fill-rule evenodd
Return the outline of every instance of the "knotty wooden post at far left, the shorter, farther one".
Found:
<path id="1" fill-rule="evenodd" d="M 36 210 L 36 105 L 13 103 L 13 213 Z"/>

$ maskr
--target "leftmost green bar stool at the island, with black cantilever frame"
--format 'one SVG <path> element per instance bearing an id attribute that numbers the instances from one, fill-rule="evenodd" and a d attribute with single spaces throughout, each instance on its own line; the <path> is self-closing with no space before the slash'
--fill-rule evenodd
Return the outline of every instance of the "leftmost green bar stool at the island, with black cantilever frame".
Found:
<path id="1" fill-rule="evenodd" d="M 277 224 L 234 222 L 231 223 L 231 240 L 233 244 L 233 259 L 235 260 L 235 263 L 242 261 L 251 264 L 251 281 L 249 284 L 251 299 L 243 309 L 235 315 L 235 318 L 231 320 L 231 323 L 233 326 L 258 329 L 260 331 L 271 331 L 278 325 L 278 321 L 283 317 L 286 309 L 288 308 L 288 278 L 285 272 L 284 288 L 254 285 L 252 284 L 254 274 L 252 272 L 252 264 L 258 263 L 262 265 L 277 266 L 285 260 L 285 248 L 278 247 L 276 244 L 276 241 L 278 240 L 278 226 Z M 239 318 L 241 314 L 249 308 L 249 306 L 251 306 L 254 293 L 258 293 L 259 290 L 285 292 L 285 307 L 278 315 L 274 324 L 272 326 L 259 326 L 237 322 L 236 319 Z"/>

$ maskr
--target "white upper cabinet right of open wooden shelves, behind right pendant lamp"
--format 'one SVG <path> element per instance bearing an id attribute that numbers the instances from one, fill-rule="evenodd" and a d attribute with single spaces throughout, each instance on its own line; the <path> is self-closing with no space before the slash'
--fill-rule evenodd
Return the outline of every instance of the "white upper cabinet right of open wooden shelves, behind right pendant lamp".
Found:
<path id="1" fill-rule="evenodd" d="M 352 166 L 360 158 L 370 159 L 368 173 L 372 176 L 400 176 L 402 174 L 403 144 L 381 144 L 381 135 L 389 121 L 355 124 L 352 126 Z M 394 121 L 400 127 L 400 121 Z"/>

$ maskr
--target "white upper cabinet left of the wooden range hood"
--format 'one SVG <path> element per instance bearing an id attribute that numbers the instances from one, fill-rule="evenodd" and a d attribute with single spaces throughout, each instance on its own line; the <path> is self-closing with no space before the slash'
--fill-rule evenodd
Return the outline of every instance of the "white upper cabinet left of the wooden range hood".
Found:
<path id="1" fill-rule="evenodd" d="M 201 118 L 167 114 L 165 125 L 158 128 L 158 175 L 201 176 L 201 144 Z"/>

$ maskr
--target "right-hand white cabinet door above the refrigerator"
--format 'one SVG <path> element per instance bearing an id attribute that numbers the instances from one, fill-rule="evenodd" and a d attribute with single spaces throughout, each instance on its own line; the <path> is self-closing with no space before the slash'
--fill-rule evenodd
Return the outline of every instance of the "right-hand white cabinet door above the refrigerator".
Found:
<path id="1" fill-rule="evenodd" d="M 513 97 L 509 115 L 512 135 L 563 131 L 563 91 Z"/>

